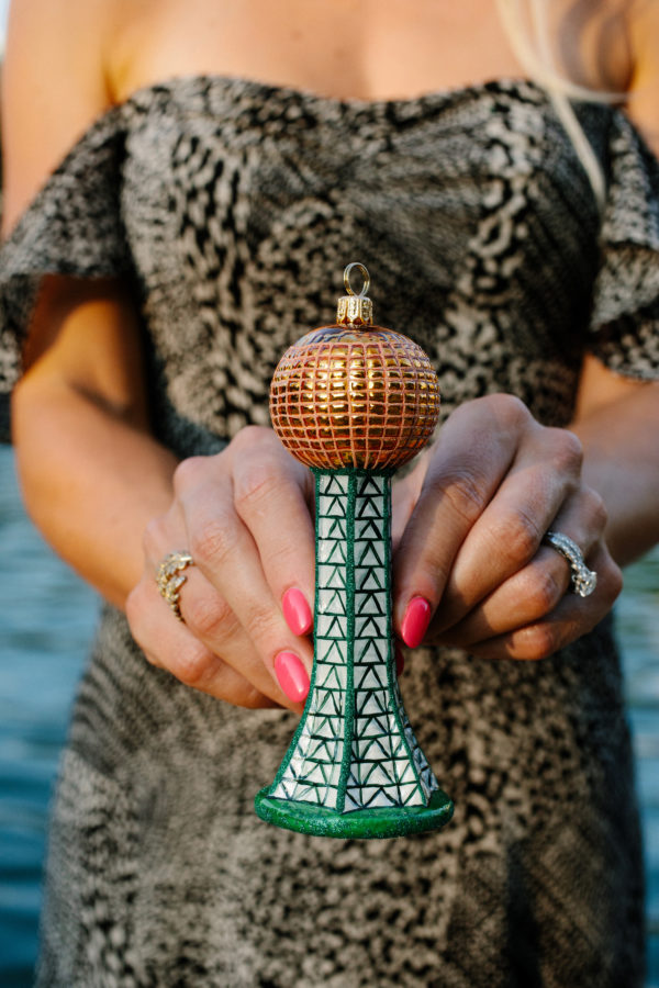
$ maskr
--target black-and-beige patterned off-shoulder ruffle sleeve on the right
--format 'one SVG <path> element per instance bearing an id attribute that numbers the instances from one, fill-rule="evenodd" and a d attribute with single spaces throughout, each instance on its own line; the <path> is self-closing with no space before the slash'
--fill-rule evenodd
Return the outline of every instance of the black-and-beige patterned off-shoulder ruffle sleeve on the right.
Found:
<path id="1" fill-rule="evenodd" d="M 659 161 L 621 112 L 611 117 L 608 192 L 589 349 L 618 373 L 659 378 Z"/>

